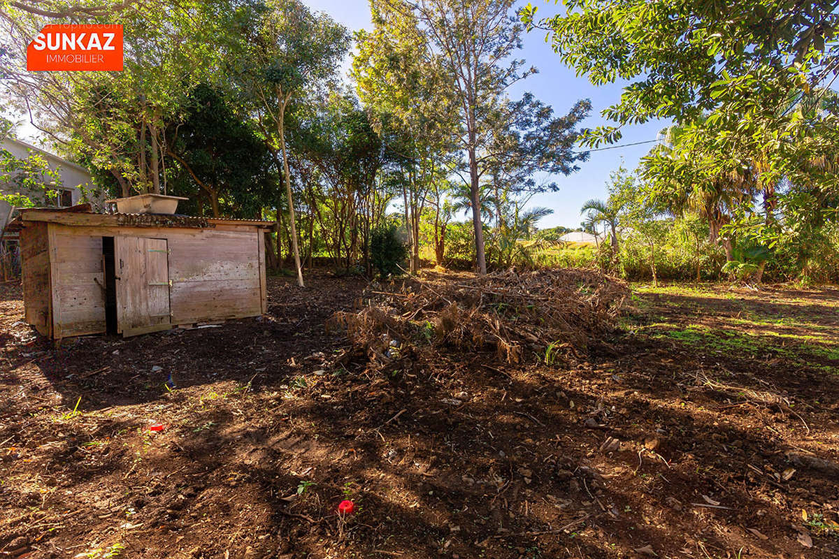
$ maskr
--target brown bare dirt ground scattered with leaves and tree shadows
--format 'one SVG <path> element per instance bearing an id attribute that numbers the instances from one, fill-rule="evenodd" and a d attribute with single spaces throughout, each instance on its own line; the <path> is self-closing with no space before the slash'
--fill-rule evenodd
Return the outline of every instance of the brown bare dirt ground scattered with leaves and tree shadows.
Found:
<path id="1" fill-rule="evenodd" d="M 59 349 L 0 287 L 0 556 L 839 556 L 839 290 L 636 286 L 573 366 L 373 373 L 324 325 L 366 282 L 308 282 Z"/>

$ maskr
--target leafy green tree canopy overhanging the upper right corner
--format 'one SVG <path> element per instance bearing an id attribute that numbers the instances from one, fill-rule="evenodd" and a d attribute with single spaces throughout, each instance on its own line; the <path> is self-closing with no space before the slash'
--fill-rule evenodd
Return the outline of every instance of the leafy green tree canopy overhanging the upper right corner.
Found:
<path id="1" fill-rule="evenodd" d="M 701 179 L 707 199 L 725 199 L 725 191 L 740 187 L 760 193 L 766 230 L 776 235 L 770 242 L 782 236 L 775 226 L 781 179 L 810 182 L 826 195 L 839 189 L 835 166 L 814 164 L 836 161 L 837 116 L 808 114 L 789 102 L 836 79 L 836 2 L 564 4 L 565 13 L 540 21 L 528 7 L 523 19 L 546 28 L 561 60 L 593 84 L 629 81 L 620 101 L 602 112 L 614 124 L 589 132 L 588 143 L 617 141 L 628 124 L 672 120 L 685 158 L 678 172 Z M 748 214 L 748 207 L 737 211 Z"/>

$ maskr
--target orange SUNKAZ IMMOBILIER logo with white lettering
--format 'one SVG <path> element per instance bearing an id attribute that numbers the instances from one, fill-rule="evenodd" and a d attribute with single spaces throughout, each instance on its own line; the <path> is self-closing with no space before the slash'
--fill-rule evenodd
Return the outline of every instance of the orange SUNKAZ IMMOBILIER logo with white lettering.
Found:
<path id="1" fill-rule="evenodd" d="M 45 25 L 26 48 L 27 70 L 122 70 L 122 25 Z"/>

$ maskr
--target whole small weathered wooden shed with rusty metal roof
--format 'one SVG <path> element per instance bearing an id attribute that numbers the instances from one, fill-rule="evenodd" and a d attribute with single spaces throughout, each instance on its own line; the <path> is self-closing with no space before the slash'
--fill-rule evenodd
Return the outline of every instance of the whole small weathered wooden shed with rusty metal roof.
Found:
<path id="1" fill-rule="evenodd" d="M 266 312 L 270 221 L 21 210 L 26 322 L 62 339 Z"/>

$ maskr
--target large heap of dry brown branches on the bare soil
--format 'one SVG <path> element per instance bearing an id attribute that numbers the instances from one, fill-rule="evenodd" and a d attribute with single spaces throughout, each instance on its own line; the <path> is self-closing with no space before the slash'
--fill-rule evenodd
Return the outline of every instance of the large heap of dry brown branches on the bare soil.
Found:
<path id="1" fill-rule="evenodd" d="M 335 313 L 370 366 L 441 352 L 491 353 L 508 363 L 584 359 L 615 327 L 627 285 L 591 270 L 425 273 L 367 287 L 357 313 Z"/>

